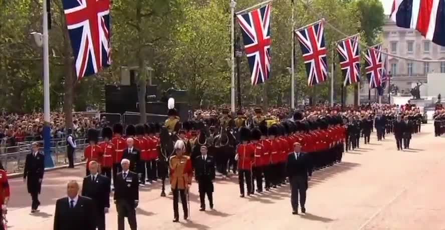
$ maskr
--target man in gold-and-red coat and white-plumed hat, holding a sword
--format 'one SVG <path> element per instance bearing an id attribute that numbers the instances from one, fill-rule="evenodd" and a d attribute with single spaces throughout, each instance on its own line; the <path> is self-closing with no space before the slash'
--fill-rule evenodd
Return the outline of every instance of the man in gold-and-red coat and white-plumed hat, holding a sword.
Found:
<path id="1" fill-rule="evenodd" d="M 173 222 L 179 222 L 179 208 L 178 201 L 181 197 L 182 210 L 184 211 L 184 219 L 188 218 L 187 199 L 185 194 L 188 194 L 188 189 L 191 185 L 193 175 L 193 168 L 189 156 L 183 155 L 185 152 L 185 143 L 182 140 L 177 140 L 174 144 L 176 155 L 169 159 L 170 166 L 170 184 L 173 192 Z"/>

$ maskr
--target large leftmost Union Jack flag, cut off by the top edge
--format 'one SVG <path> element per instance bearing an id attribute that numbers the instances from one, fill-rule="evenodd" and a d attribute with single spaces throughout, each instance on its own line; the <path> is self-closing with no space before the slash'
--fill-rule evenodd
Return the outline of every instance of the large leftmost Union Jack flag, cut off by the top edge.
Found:
<path id="1" fill-rule="evenodd" d="M 63 0 L 76 75 L 80 80 L 111 64 L 110 0 Z"/>

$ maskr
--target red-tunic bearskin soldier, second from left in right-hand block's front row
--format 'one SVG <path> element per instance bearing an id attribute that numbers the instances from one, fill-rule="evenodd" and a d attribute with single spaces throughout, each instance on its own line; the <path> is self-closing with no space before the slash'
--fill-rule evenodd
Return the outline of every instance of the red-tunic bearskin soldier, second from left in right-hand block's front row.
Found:
<path id="1" fill-rule="evenodd" d="M 263 155 L 264 147 L 261 144 L 261 130 L 259 128 L 252 129 L 252 143 L 255 147 L 254 165 L 252 168 L 252 194 L 255 190 L 255 180 L 257 180 L 257 191 L 263 192 Z"/>

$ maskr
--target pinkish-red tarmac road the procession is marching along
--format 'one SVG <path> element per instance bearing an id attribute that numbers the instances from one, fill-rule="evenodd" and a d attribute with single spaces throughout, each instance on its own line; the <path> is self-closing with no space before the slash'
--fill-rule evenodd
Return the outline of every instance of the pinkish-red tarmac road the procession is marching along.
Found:
<path id="1" fill-rule="evenodd" d="M 343 162 L 316 171 L 310 181 L 307 214 L 292 215 L 289 186 L 263 195 L 239 197 L 236 177 L 217 179 L 214 210 L 199 211 L 197 184 L 191 188 L 190 220 L 172 223 L 172 197 L 160 197 L 159 182 L 140 189 L 138 229 L 445 229 L 445 138 L 434 137 L 432 124 L 413 135 L 411 149 L 397 151 L 392 135 L 345 153 Z M 49 230 L 55 200 L 66 182 L 81 183 L 84 167 L 45 174 L 37 214 L 20 178 L 10 179 L 9 229 Z M 168 190 L 168 189 L 167 189 Z M 208 204 L 208 203 L 207 203 Z M 116 208 L 107 214 L 107 229 L 117 229 Z M 129 229 L 129 226 L 126 226 Z"/>

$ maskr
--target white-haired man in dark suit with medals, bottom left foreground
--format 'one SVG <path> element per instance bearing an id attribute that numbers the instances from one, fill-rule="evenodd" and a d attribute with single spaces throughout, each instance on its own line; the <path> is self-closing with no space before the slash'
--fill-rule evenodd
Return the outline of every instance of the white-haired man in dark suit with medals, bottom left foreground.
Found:
<path id="1" fill-rule="evenodd" d="M 139 203 L 139 177 L 130 171 L 130 160 L 123 158 L 122 171 L 116 175 L 114 203 L 117 209 L 117 229 L 124 230 L 124 217 L 128 217 L 131 230 L 137 229 L 136 207 Z"/>

